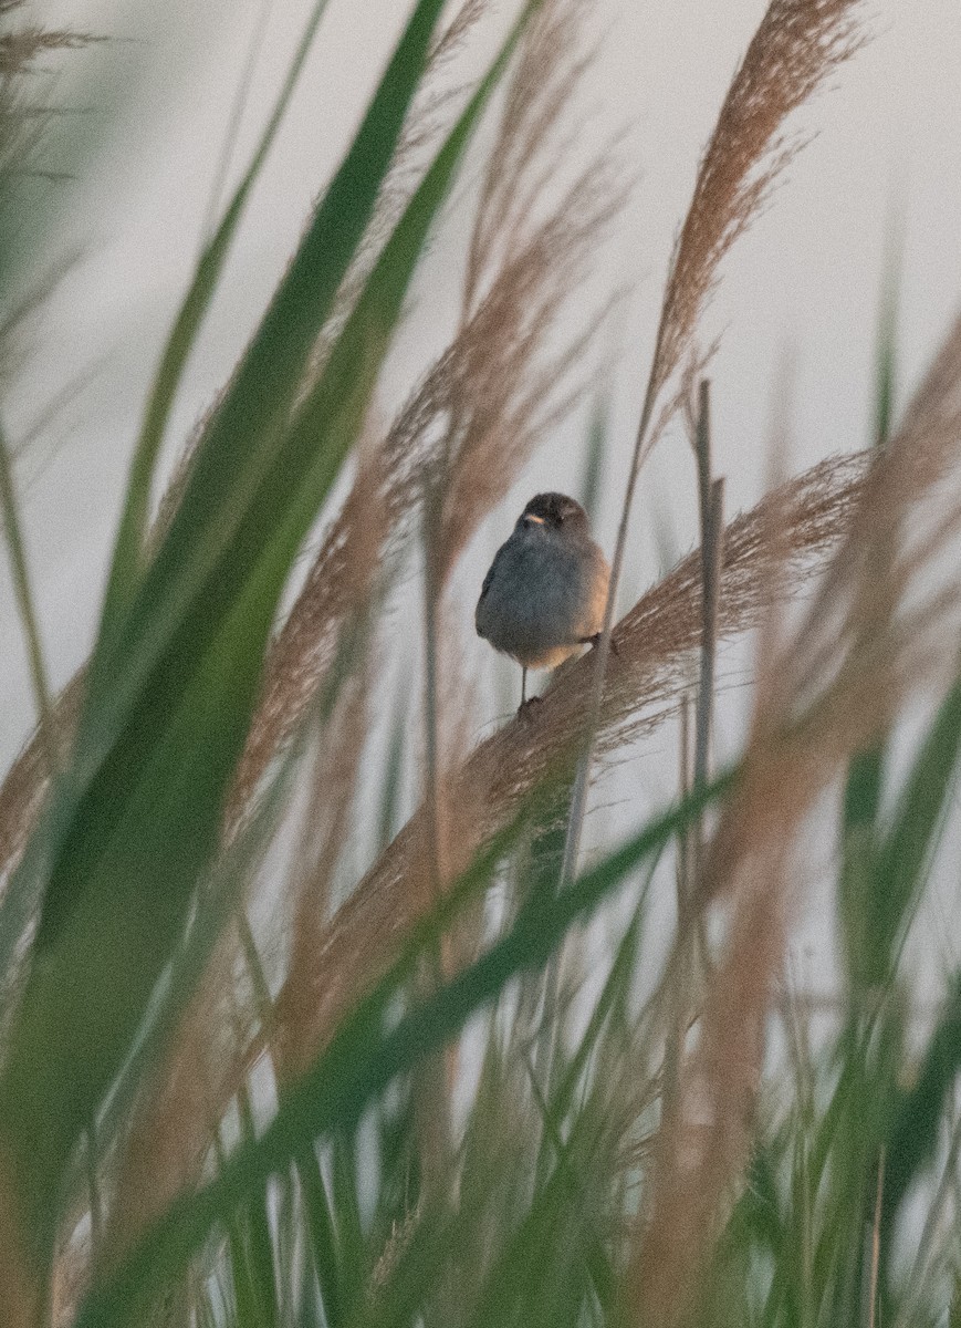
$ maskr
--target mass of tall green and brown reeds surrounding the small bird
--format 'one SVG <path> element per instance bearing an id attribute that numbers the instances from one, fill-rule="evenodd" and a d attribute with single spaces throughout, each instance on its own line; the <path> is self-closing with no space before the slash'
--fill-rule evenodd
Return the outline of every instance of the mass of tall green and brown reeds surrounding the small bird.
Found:
<path id="1" fill-rule="evenodd" d="M 637 173 L 615 129 L 564 170 L 592 61 L 581 0 L 527 4 L 470 85 L 450 61 L 490 21 L 483 0 L 411 3 L 154 510 L 173 406 L 324 9 L 183 297 L 96 644 L 58 697 L 0 438 L 37 703 L 0 789 L 0 1323 L 953 1321 L 958 975 L 919 1024 L 905 943 L 961 744 L 945 574 L 961 323 L 899 410 L 887 313 L 879 445 L 727 522 L 698 344 L 723 258 L 803 145 L 787 117 L 867 40 L 861 7 L 769 5 L 666 275 L 601 647 L 535 720 L 475 744 L 454 572 L 593 386 L 621 292 L 587 292 Z M 81 39 L 9 0 L 0 21 L 12 226 L 24 163 L 42 162 L 33 62 Z M 384 425 L 385 356 L 467 158 L 457 325 Z M 35 258 L 0 270 L 9 339 Z M 615 623 L 637 474 L 685 410 L 702 548 Z M 612 445 L 596 410 L 593 502 Z M 398 602 L 423 676 L 385 701 Z M 749 632 L 753 716 L 714 770 L 715 653 Z M 581 862 L 597 758 L 678 713 L 694 718 L 677 795 Z M 820 1023 L 786 964 L 812 825 L 839 969 Z"/>

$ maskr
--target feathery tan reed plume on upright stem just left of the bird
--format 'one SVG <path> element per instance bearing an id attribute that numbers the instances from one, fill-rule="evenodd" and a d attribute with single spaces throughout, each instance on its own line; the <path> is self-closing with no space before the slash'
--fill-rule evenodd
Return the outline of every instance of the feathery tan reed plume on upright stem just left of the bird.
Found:
<path id="1" fill-rule="evenodd" d="M 593 52 L 579 53 L 585 11 L 583 0 L 547 0 L 524 32 L 469 246 L 458 335 L 466 353 L 447 386 L 441 446 L 425 467 L 423 814 L 425 884 L 433 899 L 451 876 L 451 813 L 447 781 L 438 768 L 446 726 L 441 692 L 457 691 L 439 659 L 449 579 L 479 522 L 510 490 L 520 463 L 580 394 L 583 381 L 571 385 L 571 371 L 577 365 L 583 374 L 580 361 L 607 311 L 585 319 L 579 309 L 581 331 L 559 351 L 548 349 L 550 333 L 571 293 L 583 286 L 628 194 L 615 182 L 613 146 L 608 145 L 559 201 L 546 203 L 564 155 L 557 126 L 569 116 L 593 61 Z M 445 938 L 441 971 L 447 975 L 455 948 L 453 938 Z"/>

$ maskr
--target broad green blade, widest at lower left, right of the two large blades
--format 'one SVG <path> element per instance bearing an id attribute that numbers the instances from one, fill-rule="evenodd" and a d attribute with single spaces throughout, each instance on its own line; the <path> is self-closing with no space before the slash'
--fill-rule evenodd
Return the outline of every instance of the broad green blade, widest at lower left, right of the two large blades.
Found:
<path id="1" fill-rule="evenodd" d="M 50 845 L 48 838 L 44 853 L 56 854 L 37 938 L 44 963 L 33 965 L 27 985 L 0 1101 L 19 1158 L 21 1201 L 41 1248 L 52 1234 L 58 1177 L 77 1130 L 126 1056 L 182 928 L 194 882 L 216 847 L 223 797 L 292 559 L 356 437 L 430 224 L 519 32 L 520 24 L 388 242 L 319 389 L 268 469 L 238 542 L 228 544 L 224 566 L 174 623 L 165 590 L 178 583 L 177 555 L 173 572 L 165 555 L 191 538 L 175 519 L 130 615 L 134 660 L 138 647 L 139 659 L 155 652 L 165 628 L 173 635 L 170 648 L 129 716 L 115 696 L 92 699 L 86 737 L 94 737 L 86 750 L 78 744 L 80 770 L 74 765 L 69 772 L 53 821 L 40 826 L 40 835 L 54 839 Z M 204 533 L 198 538 L 203 543 Z M 138 673 L 125 653 L 114 692 L 134 685 Z M 110 742 L 114 728 L 119 733 Z M 97 762 L 96 777 L 78 797 L 90 749 L 108 745 L 109 758 Z M 106 980 L 96 961 L 104 950 L 110 954 Z"/>

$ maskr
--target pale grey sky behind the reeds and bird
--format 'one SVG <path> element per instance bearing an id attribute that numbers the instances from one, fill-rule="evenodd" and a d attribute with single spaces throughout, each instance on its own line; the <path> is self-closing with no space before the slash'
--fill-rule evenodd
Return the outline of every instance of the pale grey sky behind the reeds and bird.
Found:
<path id="1" fill-rule="evenodd" d="M 236 81 L 260 0 L 44 5 L 49 23 L 118 39 L 68 57 L 89 82 L 82 101 L 130 84 L 90 178 L 64 186 L 64 246 L 85 256 L 33 333 L 33 357 L 5 404 L 16 444 L 70 381 L 89 384 L 46 428 L 20 467 L 24 523 L 44 640 L 56 685 L 82 661 L 96 625 L 105 560 L 119 510 L 139 412 L 162 340 L 196 255 Z M 762 0 L 599 0 L 607 32 L 588 88 L 591 134 L 632 125 L 628 157 L 640 186 L 601 263 L 611 284 L 636 280 L 617 324 L 615 463 L 603 543 L 613 543 L 646 357 L 672 239 L 686 208 L 698 154 L 735 65 L 763 13 Z M 263 122 L 309 0 L 276 0 L 235 165 Z M 483 52 L 512 5 L 496 7 Z M 269 166 L 254 197 L 203 348 L 178 402 L 179 442 L 208 404 L 263 309 L 312 199 L 336 165 L 409 12 L 401 0 L 331 0 L 315 53 Z M 961 305 L 961 5 L 957 0 L 873 0 L 873 41 L 798 117 L 815 141 L 791 166 L 769 212 L 727 260 L 706 331 L 723 329 L 713 368 L 715 465 L 729 510 L 753 503 L 767 466 L 774 382 L 794 364 L 791 469 L 863 446 L 869 437 L 872 359 L 885 230 L 904 231 L 901 393 L 916 381 Z M 477 163 L 477 158 L 473 159 Z M 458 296 L 457 228 L 449 218 L 430 259 L 431 303 L 414 311 L 392 359 L 385 401 L 425 367 Z M 445 300 L 449 307 L 445 309 Z M 394 397 L 392 397 L 392 392 Z M 504 510 L 470 551 L 465 648 L 487 559 L 531 493 L 573 485 L 579 428 L 546 440 Z M 693 469 L 680 433 L 645 471 L 634 511 L 628 583 L 657 567 L 652 505 L 693 543 Z M 25 657 L 7 564 L 0 570 L 0 768 L 32 726 Z M 470 655 L 474 659 L 474 655 Z M 483 653 L 478 667 L 488 668 Z M 491 712 L 492 716 L 492 712 Z M 665 746 L 668 738 L 664 738 Z M 629 778 L 644 784 L 645 770 Z M 657 795 L 662 793 L 658 784 Z"/>

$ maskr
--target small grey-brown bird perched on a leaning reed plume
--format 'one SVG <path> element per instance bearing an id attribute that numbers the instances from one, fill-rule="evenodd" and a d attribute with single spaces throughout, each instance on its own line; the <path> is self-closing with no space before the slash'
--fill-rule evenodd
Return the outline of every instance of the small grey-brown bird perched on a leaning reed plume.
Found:
<path id="1" fill-rule="evenodd" d="M 523 668 L 556 668 L 604 625 L 611 568 L 591 538 L 587 513 L 565 494 L 538 494 L 498 548 L 484 576 L 478 636 Z"/>

